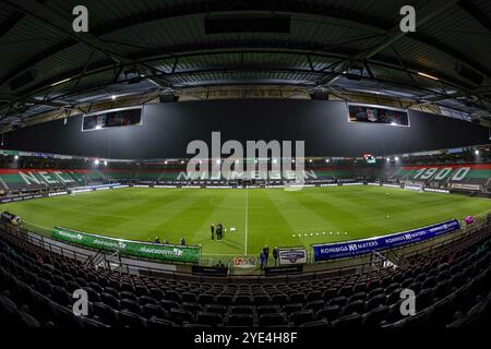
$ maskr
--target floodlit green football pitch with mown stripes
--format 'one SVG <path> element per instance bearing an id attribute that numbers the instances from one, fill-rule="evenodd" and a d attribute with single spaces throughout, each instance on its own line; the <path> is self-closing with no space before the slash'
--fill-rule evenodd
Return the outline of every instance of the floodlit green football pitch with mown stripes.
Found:
<path id="1" fill-rule="evenodd" d="M 201 244 L 203 255 L 258 255 L 263 245 L 299 246 L 369 238 L 460 219 L 491 201 L 379 186 L 283 189 L 117 189 L 2 205 L 27 228 L 55 226 L 129 240 Z M 209 226 L 227 228 L 212 241 Z M 230 231 L 230 228 L 236 231 Z"/>

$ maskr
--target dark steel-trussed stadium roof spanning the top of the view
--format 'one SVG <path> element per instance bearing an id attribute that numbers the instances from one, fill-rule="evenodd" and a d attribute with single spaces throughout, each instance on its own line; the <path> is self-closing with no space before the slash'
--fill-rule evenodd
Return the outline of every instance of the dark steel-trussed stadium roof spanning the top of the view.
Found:
<path id="1" fill-rule="evenodd" d="M 87 0 L 88 33 L 75 34 L 77 4 L 0 2 L 5 129 L 99 104 L 229 91 L 283 98 L 321 92 L 491 120 L 488 0 Z M 399 29 L 406 4 L 416 8 L 415 33 Z"/>

